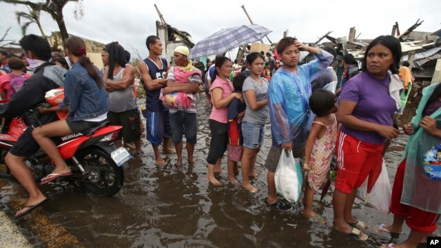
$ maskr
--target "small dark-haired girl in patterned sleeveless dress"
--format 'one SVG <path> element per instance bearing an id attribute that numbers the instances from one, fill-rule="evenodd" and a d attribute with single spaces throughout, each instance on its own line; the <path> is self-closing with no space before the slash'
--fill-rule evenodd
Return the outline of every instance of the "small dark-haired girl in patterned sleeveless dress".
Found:
<path id="1" fill-rule="evenodd" d="M 316 90 L 309 98 L 309 107 L 316 114 L 305 147 L 305 163 L 308 171 L 303 215 L 312 222 L 325 223 L 326 219 L 312 209 L 314 192 L 318 192 L 325 180 L 337 141 L 337 97 L 328 90 Z"/>

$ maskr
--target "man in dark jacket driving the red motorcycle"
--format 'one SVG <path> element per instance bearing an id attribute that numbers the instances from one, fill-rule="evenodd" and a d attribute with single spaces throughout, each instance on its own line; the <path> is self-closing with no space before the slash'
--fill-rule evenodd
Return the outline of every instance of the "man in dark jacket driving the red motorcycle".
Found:
<path id="1" fill-rule="evenodd" d="M 36 107 L 45 101 L 45 92 L 63 86 L 64 74 L 67 72 L 64 68 L 48 62 L 51 58 L 51 49 L 48 41 L 42 37 L 29 34 L 23 37 L 19 43 L 25 52 L 26 59 L 30 61 L 30 64 L 37 65 L 37 69 L 25 81 L 21 90 L 12 96 L 10 102 L 0 105 L 1 117 L 23 116 L 25 120 L 28 120 L 26 124 L 29 126 L 5 158 L 6 165 L 14 177 L 29 194 L 28 202 L 17 211 L 16 217 L 28 214 L 34 207 L 46 200 L 34 182 L 31 170 L 25 165 L 25 160 L 40 148 L 32 138 L 34 127 L 58 120 L 55 112 L 41 114 L 36 117 L 36 120 L 27 117 L 38 112 Z"/>

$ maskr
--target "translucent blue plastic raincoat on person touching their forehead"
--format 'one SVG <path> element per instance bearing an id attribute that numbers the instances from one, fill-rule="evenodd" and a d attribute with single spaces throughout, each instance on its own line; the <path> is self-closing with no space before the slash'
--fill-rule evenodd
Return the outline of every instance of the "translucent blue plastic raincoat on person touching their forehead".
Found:
<path id="1" fill-rule="evenodd" d="M 334 59 L 324 50 L 314 56 L 314 61 L 300 65 L 296 72 L 280 68 L 271 77 L 267 96 L 271 135 L 276 147 L 291 141 L 297 147 L 307 139 L 311 81 L 325 72 Z"/>

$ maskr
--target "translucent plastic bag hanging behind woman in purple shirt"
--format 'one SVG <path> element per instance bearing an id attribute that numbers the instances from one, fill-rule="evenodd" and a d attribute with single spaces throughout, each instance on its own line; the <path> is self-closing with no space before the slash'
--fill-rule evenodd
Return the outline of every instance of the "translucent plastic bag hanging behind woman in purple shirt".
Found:
<path id="1" fill-rule="evenodd" d="M 365 205 L 373 207 L 382 214 L 389 214 L 389 206 L 391 205 L 392 187 L 387 174 L 386 164 L 381 165 L 381 173 L 376 183 L 373 185 L 371 193 L 367 194 L 367 180 L 357 190 L 357 197 L 365 201 Z"/>

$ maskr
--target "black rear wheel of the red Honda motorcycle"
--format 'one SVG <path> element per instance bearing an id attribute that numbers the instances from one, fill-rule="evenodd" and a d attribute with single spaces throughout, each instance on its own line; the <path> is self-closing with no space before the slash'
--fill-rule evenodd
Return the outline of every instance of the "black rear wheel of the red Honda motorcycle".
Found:
<path id="1" fill-rule="evenodd" d="M 75 156 L 85 169 L 85 179 L 89 181 L 81 184 L 90 192 L 113 196 L 123 187 L 123 168 L 116 165 L 110 154 L 99 147 L 88 147 Z"/>

